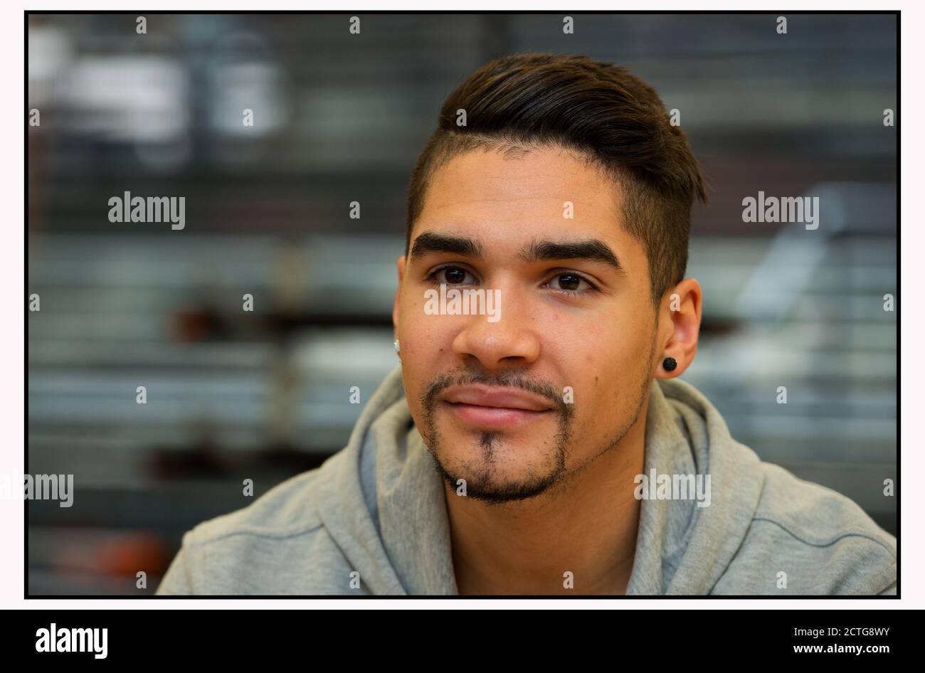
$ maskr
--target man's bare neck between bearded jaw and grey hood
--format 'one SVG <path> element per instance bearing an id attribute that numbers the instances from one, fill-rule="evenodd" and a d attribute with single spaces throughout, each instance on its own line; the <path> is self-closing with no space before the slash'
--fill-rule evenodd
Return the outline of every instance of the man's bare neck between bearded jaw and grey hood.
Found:
<path id="1" fill-rule="evenodd" d="M 620 442 L 552 493 L 489 505 L 456 496 L 444 483 L 459 593 L 626 593 L 639 526 L 634 479 L 644 469 L 647 411 L 648 399 Z"/>

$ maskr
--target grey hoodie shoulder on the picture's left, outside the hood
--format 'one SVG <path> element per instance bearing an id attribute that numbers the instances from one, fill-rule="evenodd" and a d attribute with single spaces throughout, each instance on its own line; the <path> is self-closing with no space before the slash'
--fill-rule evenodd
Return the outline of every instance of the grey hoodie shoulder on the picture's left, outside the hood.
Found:
<path id="1" fill-rule="evenodd" d="M 186 532 L 157 593 L 336 593 L 326 591 L 327 578 L 346 561 L 316 506 L 322 469 L 302 472 L 248 507 Z"/>

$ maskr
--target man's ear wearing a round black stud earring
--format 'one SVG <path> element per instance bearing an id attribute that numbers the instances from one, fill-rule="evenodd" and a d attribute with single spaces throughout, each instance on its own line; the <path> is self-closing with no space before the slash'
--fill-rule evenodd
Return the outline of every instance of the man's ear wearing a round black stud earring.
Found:
<path id="1" fill-rule="evenodd" d="M 661 349 L 656 353 L 656 378 L 680 376 L 694 361 L 700 334 L 702 300 L 700 284 L 694 278 L 685 278 L 662 301 L 657 336 Z M 674 358 L 678 366 L 671 372 L 667 371 L 662 364 L 665 358 Z"/>

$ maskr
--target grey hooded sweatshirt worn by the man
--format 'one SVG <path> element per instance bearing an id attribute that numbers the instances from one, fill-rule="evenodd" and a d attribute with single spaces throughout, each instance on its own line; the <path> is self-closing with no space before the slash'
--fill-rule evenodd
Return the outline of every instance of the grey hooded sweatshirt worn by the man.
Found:
<path id="1" fill-rule="evenodd" d="M 627 594 L 896 592 L 893 535 L 847 497 L 762 462 L 684 381 L 652 382 L 645 469 L 709 474 L 709 507 L 642 499 Z M 444 497 L 396 368 L 347 447 L 187 532 L 157 593 L 458 594 Z"/>

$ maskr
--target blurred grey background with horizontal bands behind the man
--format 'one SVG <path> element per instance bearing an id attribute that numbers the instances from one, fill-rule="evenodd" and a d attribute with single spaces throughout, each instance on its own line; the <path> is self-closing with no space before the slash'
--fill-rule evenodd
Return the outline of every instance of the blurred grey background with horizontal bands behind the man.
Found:
<path id="1" fill-rule="evenodd" d="M 893 15 L 137 16 L 27 17 L 27 471 L 76 491 L 28 503 L 29 593 L 153 593 L 183 532 L 253 502 L 244 479 L 260 496 L 346 444 L 351 386 L 365 403 L 396 363 L 414 161 L 446 95 L 520 51 L 629 67 L 681 111 L 712 185 L 683 378 L 896 532 Z M 819 229 L 743 223 L 759 190 L 819 196 Z M 185 228 L 109 222 L 125 191 L 186 197 Z"/>

